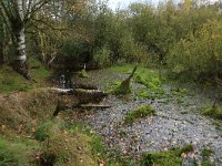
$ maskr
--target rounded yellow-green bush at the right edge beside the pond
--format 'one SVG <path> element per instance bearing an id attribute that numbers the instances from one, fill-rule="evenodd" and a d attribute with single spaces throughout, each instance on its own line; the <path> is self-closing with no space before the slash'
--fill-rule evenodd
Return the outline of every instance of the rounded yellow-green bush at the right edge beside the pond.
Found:
<path id="1" fill-rule="evenodd" d="M 181 39 L 168 59 L 170 72 L 186 79 L 199 80 L 204 75 L 214 79 L 222 74 L 222 24 L 209 20 L 196 32 Z"/>

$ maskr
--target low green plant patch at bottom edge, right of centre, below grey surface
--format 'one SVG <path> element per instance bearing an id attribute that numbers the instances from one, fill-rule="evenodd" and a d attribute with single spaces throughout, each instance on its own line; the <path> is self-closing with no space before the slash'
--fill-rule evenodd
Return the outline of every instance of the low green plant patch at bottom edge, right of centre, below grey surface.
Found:
<path id="1" fill-rule="evenodd" d="M 192 151 L 192 145 L 185 145 L 183 148 L 174 148 L 167 152 L 143 154 L 141 166 L 181 166 L 181 155 L 183 153 L 189 153 Z"/>

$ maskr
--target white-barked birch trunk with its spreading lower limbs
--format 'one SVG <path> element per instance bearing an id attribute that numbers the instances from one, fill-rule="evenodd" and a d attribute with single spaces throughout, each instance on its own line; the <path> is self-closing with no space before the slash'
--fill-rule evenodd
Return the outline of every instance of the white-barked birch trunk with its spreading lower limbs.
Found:
<path id="1" fill-rule="evenodd" d="M 50 0 L 0 0 L 0 14 L 16 48 L 14 70 L 30 79 L 26 65 L 26 25 Z"/>

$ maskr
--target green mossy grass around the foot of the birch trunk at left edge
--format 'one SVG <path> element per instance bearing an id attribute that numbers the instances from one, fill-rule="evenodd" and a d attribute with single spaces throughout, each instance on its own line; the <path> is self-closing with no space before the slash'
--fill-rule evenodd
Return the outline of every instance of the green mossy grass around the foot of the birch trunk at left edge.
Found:
<path id="1" fill-rule="evenodd" d="M 28 91 L 36 86 L 41 86 L 43 79 L 50 75 L 50 72 L 36 59 L 30 58 L 28 61 L 32 79 L 38 83 L 28 82 L 23 76 L 12 70 L 11 66 L 3 65 L 0 68 L 0 92 L 10 93 L 17 91 Z"/>

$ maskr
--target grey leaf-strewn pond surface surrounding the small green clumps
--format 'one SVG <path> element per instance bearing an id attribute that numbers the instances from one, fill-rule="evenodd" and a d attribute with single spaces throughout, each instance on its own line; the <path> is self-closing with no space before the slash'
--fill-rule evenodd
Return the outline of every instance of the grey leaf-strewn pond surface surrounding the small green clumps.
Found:
<path id="1" fill-rule="evenodd" d="M 90 82 L 100 89 L 105 89 L 107 82 L 123 80 L 125 76 L 108 71 L 94 71 L 90 73 Z M 133 92 L 139 89 L 144 86 L 133 84 Z M 170 89 L 172 86 L 164 85 L 165 92 L 170 92 Z M 192 87 L 188 90 L 191 91 Z M 216 90 L 192 90 L 194 95 L 183 96 L 182 103 L 178 103 L 176 97 L 170 101 L 140 97 L 122 101 L 110 95 L 103 102 L 112 105 L 111 108 L 89 111 L 83 121 L 103 137 L 110 148 L 120 148 L 124 154 L 140 156 L 142 153 L 161 152 L 192 144 L 194 146 L 192 157 L 198 162 L 201 160 L 201 151 L 210 147 L 213 151 L 211 160 L 222 166 L 222 132 L 213 124 L 214 120 L 200 114 L 201 106 L 212 104 L 211 94 L 215 92 Z M 144 104 L 151 104 L 157 115 L 138 120 L 132 125 L 124 125 L 125 114 Z M 190 166 L 189 160 L 184 159 L 183 165 Z"/>

